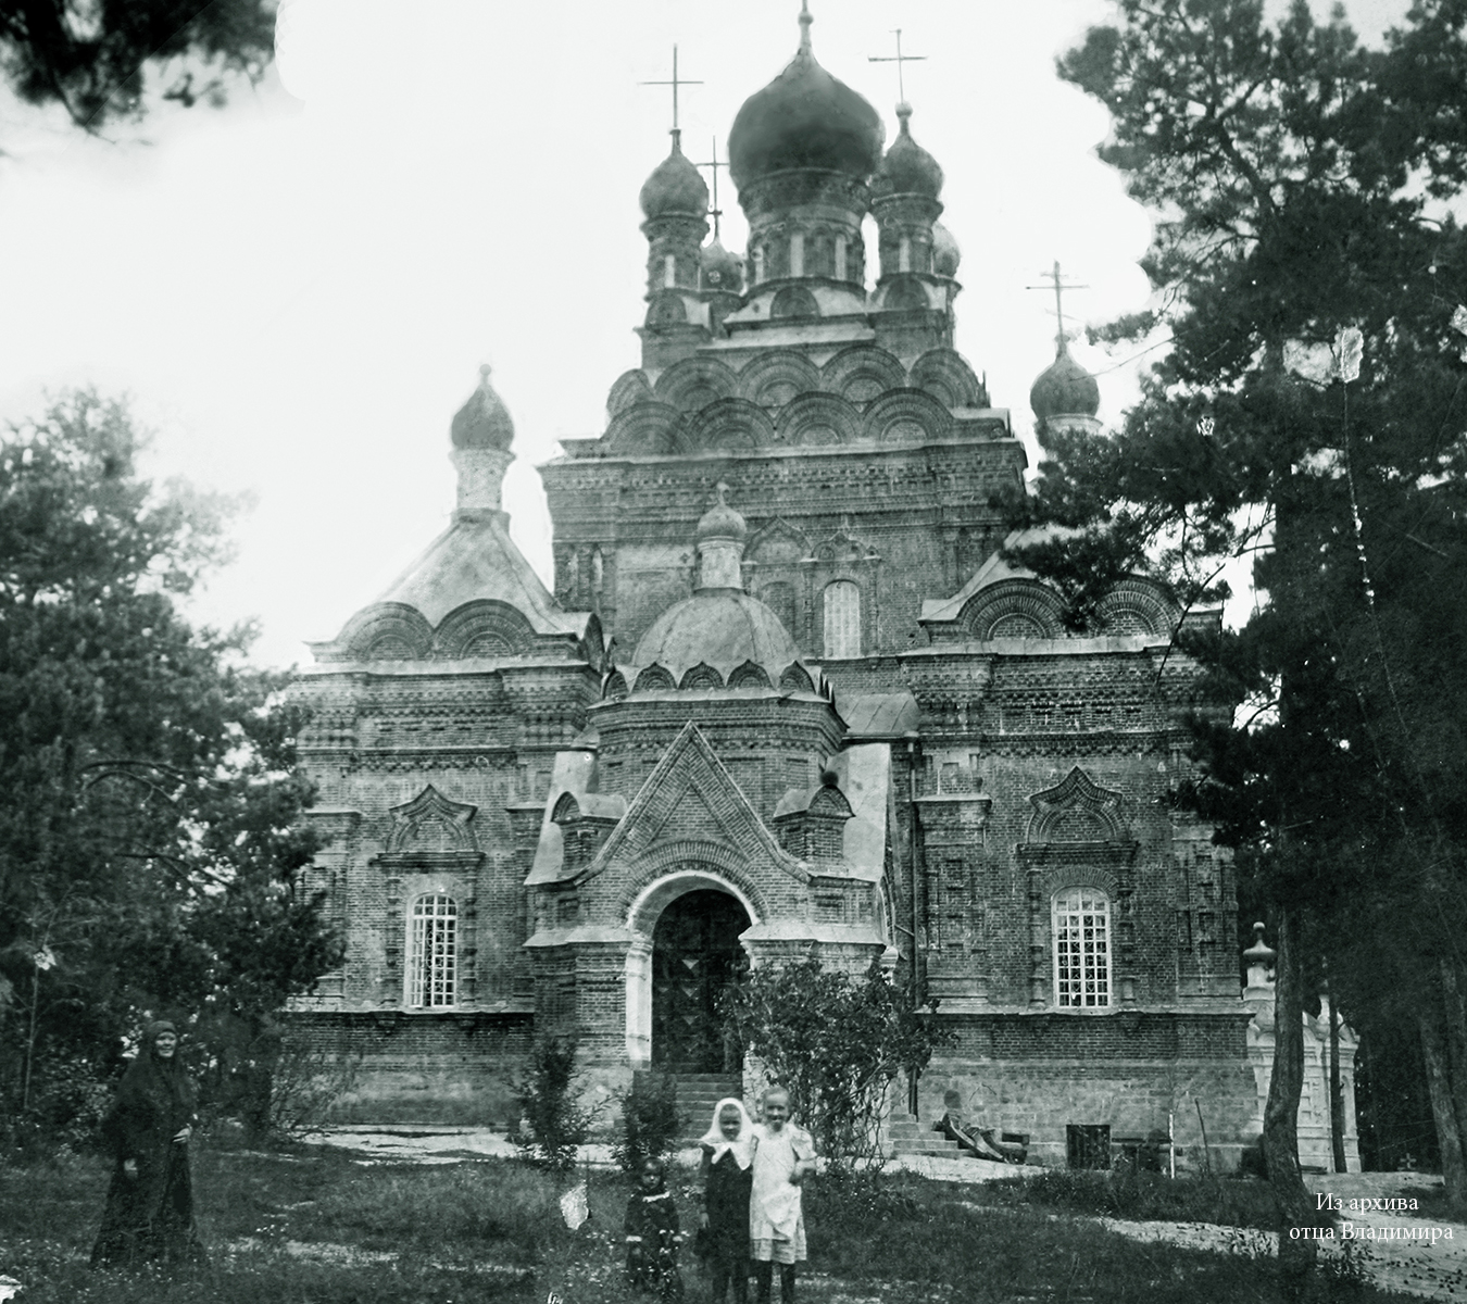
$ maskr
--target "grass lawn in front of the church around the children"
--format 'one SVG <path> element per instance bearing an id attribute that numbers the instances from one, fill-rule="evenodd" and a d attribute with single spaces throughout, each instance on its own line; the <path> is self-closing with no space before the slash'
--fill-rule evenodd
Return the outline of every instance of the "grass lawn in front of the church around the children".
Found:
<path id="1" fill-rule="evenodd" d="M 195 1191 L 211 1261 L 179 1279 L 87 1266 L 106 1184 L 106 1168 L 94 1159 L 0 1168 L 0 1275 L 22 1282 L 16 1304 L 541 1304 L 549 1291 L 565 1304 L 645 1301 L 621 1281 L 628 1187 L 612 1173 L 591 1175 L 591 1220 L 569 1232 L 556 1179 L 505 1160 L 362 1166 L 332 1150 L 205 1147 L 195 1156 Z M 685 1226 L 694 1217 L 688 1187 L 691 1175 L 679 1175 Z M 801 1298 L 1278 1298 L 1269 1261 L 1135 1244 L 1022 1195 L 905 1173 L 879 1182 L 811 1179 Z M 684 1281 L 689 1304 L 709 1298 L 691 1254 Z M 1322 1283 L 1319 1298 L 1402 1297 Z"/>

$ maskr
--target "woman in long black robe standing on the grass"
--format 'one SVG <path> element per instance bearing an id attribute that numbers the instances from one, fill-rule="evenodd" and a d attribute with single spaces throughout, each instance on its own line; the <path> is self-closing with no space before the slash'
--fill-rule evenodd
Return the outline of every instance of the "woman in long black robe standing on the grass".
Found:
<path id="1" fill-rule="evenodd" d="M 101 1121 L 114 1162 L 92 1264 L 198 1263 L 188 1138 L 197 1094 L 173 1024 L 150 1024 Z"/>

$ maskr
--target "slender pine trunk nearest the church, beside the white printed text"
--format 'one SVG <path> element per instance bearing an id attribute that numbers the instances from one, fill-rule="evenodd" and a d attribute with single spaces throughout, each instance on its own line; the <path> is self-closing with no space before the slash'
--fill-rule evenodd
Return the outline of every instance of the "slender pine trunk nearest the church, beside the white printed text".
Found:
<path id="1" fill-rule="evenodd" d="M 1279 912 L 1273 986 L 1273 1077 L 1263 1107 L 1263 1156 L 1279 1216 L 1279 1283 L 1284 1298 L 1301 1298 L 1319 1242 L 1313 1200 L 1298 1166 L 1298 1097 L 1304 1088 L 1304 992 L 1291 909 Z"/>

